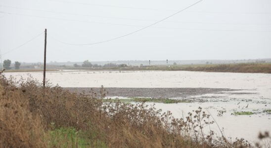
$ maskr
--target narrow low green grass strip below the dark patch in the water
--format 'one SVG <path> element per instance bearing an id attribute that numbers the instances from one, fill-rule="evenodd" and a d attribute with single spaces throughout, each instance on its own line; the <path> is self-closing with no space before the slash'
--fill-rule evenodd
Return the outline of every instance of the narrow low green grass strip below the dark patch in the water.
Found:
<path id="1" fill-rule="evenodd" d="M 131 99 L 103 99 L 103 102 L 116 102 L 120 101 L 123 103 L 132 103 L 132 102 L 151 102 L 151 103 L 191 103 L 191 100 L 181 100 L 181 99 L 152 99 L 152 98 L 131 98 Z"/>

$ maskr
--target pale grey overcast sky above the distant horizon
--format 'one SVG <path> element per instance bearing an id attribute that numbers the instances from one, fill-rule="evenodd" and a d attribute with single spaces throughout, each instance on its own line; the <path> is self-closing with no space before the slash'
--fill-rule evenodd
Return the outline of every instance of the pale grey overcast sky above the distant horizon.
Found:
<path id="1" fill-rule="evenodd" d="M 271 0 L 0 0 L 0 50 L 12 62 L 271 58 Z M 28 40 L 25 45 L 12 50 Z M 57 41 L 59 40 L 59 41 Z"/>

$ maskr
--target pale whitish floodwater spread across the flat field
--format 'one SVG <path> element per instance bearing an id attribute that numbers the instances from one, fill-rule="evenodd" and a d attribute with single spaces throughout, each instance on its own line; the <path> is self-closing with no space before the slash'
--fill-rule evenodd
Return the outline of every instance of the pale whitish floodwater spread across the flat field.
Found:
<path id="1" fill-rule="evenodd" d="M 16 78 L 29 77 L 42 81 L 43 73 L 5 73 Z M 47 72 L 46 79 L 61 87 L 118 87 L 118 88 L 223 88 L 237 89 L 237 91 L 221 91 L 186 96 L 189 99 L 205 99 L 208 102 L 160 104 L 157 109 L 172 111 L 175 117 L 185 115 L 198 107 L 209 111 L 224 129 L 226 137 L 244 138 L 250 142 L 257 140 L 260 131 L 271 132 L 271 114 L 264 110 L 271 110 L 271 74 L 244 73 L 206 73 L 186 71 L 62 71 Z M 122 96 L 119 96 L 122 97 Z M 180 97 L 176 97 L 180 98 Z M 151 103 L 149 103 L 151 104 Z M 226 109 L 223 116 L 217 116 L 218 111 Z M 234 111 L 252 111 L 252 115 L 231 115 Z M 220 135 L 216 124 L 210 126 Z"/>

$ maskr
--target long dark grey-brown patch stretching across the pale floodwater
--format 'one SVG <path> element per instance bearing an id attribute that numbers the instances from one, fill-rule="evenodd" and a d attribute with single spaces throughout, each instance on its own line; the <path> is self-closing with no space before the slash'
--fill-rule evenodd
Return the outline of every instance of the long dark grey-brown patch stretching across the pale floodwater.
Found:
<path id="1" fill-rule="evenodd" d="M 64 87 L 73 93 L 90 94 L 91 87 Z M 93 91 L 99 94 L 100 88 L 92 87 Z M 223 94 L 223 93 L 234 93 L 240 89 L 227 89 L 227 88 L 118 88 L 109 87 L 104 88 L 108 94 L 106 97 L 149 97 L 155 99 L 162 98 L 187 98 L 191 96 L 198 96 L 204 94 Z M 237 93 L 237 92 L 236 92 Z"/>

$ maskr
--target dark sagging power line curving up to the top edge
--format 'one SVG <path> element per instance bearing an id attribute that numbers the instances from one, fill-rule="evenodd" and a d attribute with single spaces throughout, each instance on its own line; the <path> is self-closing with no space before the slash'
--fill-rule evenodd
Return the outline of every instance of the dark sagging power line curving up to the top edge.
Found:
<path id="1" fill-rule="evenodd" d="M 103 41 L 99 41 L 99 42 L 93 42 L 93 43 L 87 43 L 87 44 L 71 44 L 71 43 L 66 43 L 66 42 L 60 41 L 60 40 L 58 40 L 58 41 L 60 41 L 60 42 L 62 42 L 62 43 L 65 43 L 65 44 L 69 44 L 69 45 L 93 45 L 93 44 L 99 44 L 99 43 L 103 43 L 103 42 L 112 41 L 112 40 L 115 40 L 115 39 L 119 39 L 119 38 L 122 38 L 122 37 L 126 37 L 126 36 L 129 36 L 129 35 L 132 35 L 132 34 L 134 34 L 134 33 L 137 33 L 137 32 L 139 32 L 139 31 L 141 31 L 141 30 L 144 30 L 144 29 L 149 28 L 149 27 L 151 27 L 151 26 L 153 26 L 153 25 L 156 25 L 156 24 L 158 24 L 158 23 L 160 23 L 160 22 L 162 22 L 162 21 L 164 21 L 164 20 L 166 20 L 166 19 L 168 19 L 168 18 L 170 18 L 170 17 L 172 17 L 172 16 L 174 16 L 174 15 L 176 15 L 176 14 L 178 14 L 178 13 L 180 13 L 180 12 L 182 12 L 182 11 L 184 11 L 184 10 L 186 10 L 186 9 L 188 9 L 188 8 L 190 8 L 190 7 L 192 7 L 192 6 L 194 6 L 194 5 L 196 5 L 196 4 L 199 3 L 200 1 L 202 1 L 202 0 L 197 1 L 197 2 L 195 2 L 195 3 L 193 3 L 193 4 L 189 5 L 189 6 L 187 6 L 186 8 L 181 9 L 181 10 L 178 11 L 178 12 L 176 12 L 176 13 L 174 13 L 174 14 L 168 16 L 168 17 L 163 18 L 163 19 L 160 20 L 160 21 L 157 21 L 157 22 L 155 22 L 155 23 L 153 23 L 153 24 L 150 24 L 150 25 L 148 25 L 148 26 L 146 26 L 146 27 L 143 27 L 143 28 L 141 28 L 141 29 L 138 29 L 138 30 L 136 30 L 136 31 L 134 31 L 134 32 L 131 32 L 131 33 L 129 33 L 129 34 L 126 34 L 126 35 L 123 35 L 123 36 L 120 36 L 120 37 L 115 37 L 115 38 L 112 38 L 112 39 L 107 39 L 107 40 L 103 40 Z"/>

